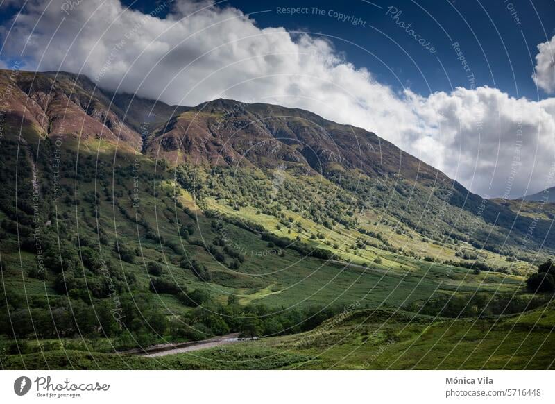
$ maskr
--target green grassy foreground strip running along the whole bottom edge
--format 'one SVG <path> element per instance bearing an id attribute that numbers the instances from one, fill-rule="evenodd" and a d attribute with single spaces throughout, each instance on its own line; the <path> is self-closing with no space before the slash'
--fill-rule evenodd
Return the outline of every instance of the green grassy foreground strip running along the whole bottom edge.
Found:
<path id="1" fill-rule="evenodd" d="M 548 324 L 533 326 L 535 317 Z M 5 369 L 553 369 L 555 310 L 517 320 L 354 310 L 307 333 L 146 358 L 83 351 L 8 355 Z M 533 320 L 533 323 L 532 323 Z M 503 342 L 503 344 L 499 344 Z"/>

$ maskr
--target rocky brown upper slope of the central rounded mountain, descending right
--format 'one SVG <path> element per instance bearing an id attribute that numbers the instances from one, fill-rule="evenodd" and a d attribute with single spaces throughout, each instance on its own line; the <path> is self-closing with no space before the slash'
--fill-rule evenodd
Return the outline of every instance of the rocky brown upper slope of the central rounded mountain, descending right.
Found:
<path id="1" fill-rule="evenodd" d="M 203 103 L 153 131 L 144 151 L 172 167 L 187 165 L 209 173 L 219 167 L 246 176 L 245 170 L 261 171 L 268 183 L 275 182 L 276 170 L 291 174 L 284 178 L 293 181 L 322 176 L 329 185 L 328 196 L 334 198 L 323 199 L 321 211 L 326 210 L 322 203 L 334 205 L 343 199 L 354 210 L 371 209 L 378 216 L 393 217 L 425 237 L 468 241 L 478 249 L 505 255 L 522 255 L 522 240 L 539 242 L 549 228 L 548 222 L 540 221 L 530 237 L 528 218 L 496 201 L 484 201 L 374 133 L 293 108 L 223 99 Z M 226 192 L 215 188 L 208 193 Z M 234 190 L 234 198 L 245 192 L 252 190 Z M 289 195 L 289 201 L 294 199 Z M 264 206 L 257 203 L 256 208 Z M 546 244 L 553 248 L 554 238 Z"/>

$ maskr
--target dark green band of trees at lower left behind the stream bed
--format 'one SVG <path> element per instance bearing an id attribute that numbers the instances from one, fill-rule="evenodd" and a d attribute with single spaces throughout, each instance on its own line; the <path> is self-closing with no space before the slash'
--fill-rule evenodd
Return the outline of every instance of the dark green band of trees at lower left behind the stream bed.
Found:
<path id="1" fill-rule="evenodd" d="M 158 277 L 157 277 L 158 278 Z M 157 284 L 157 288 L 161 284 Z M 1 290 L 2 294 L 5 292 Z M 157 292 L 160 292 L 157 290 Z M 239 332 L 244 337 L 283 335 L 310 330 L 341 308 L 276 308 L 241 306 L 235 296 L 218 303 L 207 292 L 170 290 L 191 310 L 169 316 L 150 293 L 121 293 L 89 303 L 69 296 L 25 297 L 6 291 L 0 301 L 0 330 L 6 337 L 99 339 L 110 337 L 118 349 L 145 346 L 164 339 L 198 340 Z"/>

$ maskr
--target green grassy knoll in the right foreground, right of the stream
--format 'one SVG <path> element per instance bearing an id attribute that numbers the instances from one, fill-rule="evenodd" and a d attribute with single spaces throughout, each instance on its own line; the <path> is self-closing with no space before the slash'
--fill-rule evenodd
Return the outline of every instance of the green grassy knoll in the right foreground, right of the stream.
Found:
<path id="1" fill-rule="evenodd" d="M 547 310 L 553 316 L 555 310 Z M 331 324 L 331 326 L 330 326 Z M 503 344 L 499 344 L 503 342 Z M 553 369 L 552 327 L 511 317 L 433 320 L 393 310 L 358 310 L 308 333 L 260 342 L 314 357 L 293 369 Z"/>

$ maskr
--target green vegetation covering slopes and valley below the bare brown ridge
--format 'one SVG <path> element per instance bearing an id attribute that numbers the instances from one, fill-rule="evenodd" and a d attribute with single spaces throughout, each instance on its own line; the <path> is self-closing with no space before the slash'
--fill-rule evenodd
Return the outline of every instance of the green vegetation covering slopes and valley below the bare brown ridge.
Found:
<path id="1" fill-rule="evenodd" d="M 25 80 L 20 84 L 31 94 Z M 56 94 L 73 91 L 76 83 L 60 80 Z M 99 110 L 83 113 L 107 117 L 102 93 L 95 99 L 83 85 L 67 98 L 76 108 L 94 100 Z M 251 108 L 248 114 L 268 114 Z M 403 157 L 412 163 L 399 174 L 391 163 L 395 150 L 384 149 L 391 161 L 366 160 L 360 172 L 346 155 L 343 170 L 325 150 L 288 142 L 275 153 L 251 155 L 241 149 L 255 138 L 247 131 L 245 143 L 232 146 L 248 163 L 234 164 L 233 156 L 225 164 L 203 160 L 212 153 L 195 154 L 204 142 L 191 137 L 188 150 L 171 142 L 170 132 L 186 127 L 191 111 L 199 112 L 184 109 L 167 126 L 157 123 L 141 150 L 88 127 L 46 133 L 6 119 L 1 367 L 552 367 L 546 321 L 554 319 L 554 266 L 548 261 L 530 275 L 533 255 L 520 249 L 529 218 L 498 203 L 482 208 L 460 185 L 443 177 L 436 183 L 431 167 L 414 178 L 416 159 Z M 216 143 L 251 117 L 225 115 L 218 105 L 203 113 L 203 124 L 216 134 L 206 142 Z M 321 139 L 321 129 L 301 118 L 260 130 L 287 134 L 291 143 L 295 136 Z M 108 119 L 95 122 L 114 128 Z M 128 124 L 137 126 L 135 119 Z M 338 143 L 349 143 L 345 127 L 320 124 Z M 375 135 L 358 135 L 377 147 Z M 161 159 L 149 157 L 154 146 L 163 150 Z M 532 244 L 545 238 L 548 219 L 538 221 Z M 542 260 L 553 252 L 547 241 Z M 468 359 L 464 350 L 484 330 Z M 194 357 L 116 353 L 228 333 L 250 341 Z M 442 353 L 440 362 L 427 354 L 431 347 Z M 507 360 L 511 348 L 517 353 Z"/>

